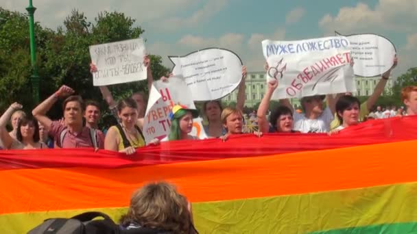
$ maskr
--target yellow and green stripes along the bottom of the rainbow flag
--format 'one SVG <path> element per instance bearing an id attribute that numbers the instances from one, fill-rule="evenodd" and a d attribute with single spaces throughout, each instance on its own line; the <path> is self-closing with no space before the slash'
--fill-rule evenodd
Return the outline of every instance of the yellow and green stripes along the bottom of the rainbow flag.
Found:
<path id="1" fill-rule="evenodd" d="M 416 231 L 417 183 L 291 196 L 193 204 L 200 233 L 409 233 Z M 372 201 L 372 202 L 370 202 Z M 103 211 L 118 220 L 126 207 L 10 213 L 0 216 L 0 233 L 25 230 L 51 217 Z M 16 225 L 16 226 L 13 226 Z M 402 232 L 403 231 L 403 232 Z"/>

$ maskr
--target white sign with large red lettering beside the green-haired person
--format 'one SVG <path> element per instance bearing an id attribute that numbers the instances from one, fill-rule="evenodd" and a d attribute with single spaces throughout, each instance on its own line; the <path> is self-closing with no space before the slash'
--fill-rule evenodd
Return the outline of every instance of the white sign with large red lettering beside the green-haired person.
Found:
<path id="1" fill-rule="evenodd" d="M 150 142 L 154 138 L 160 140 L 169 134 L 171 127 L 169 113 L 174 105 L 186 105 L 190 109 L 195 109 L 190 97 L 189 87 L 178 77 L 170 77 L 167 82 L 154 81 L 143 120 L 145 141 Z M 196 135 L 200 139 L 207 138 L 201 118 L 193 120 L 193 130 L 190 134 Z"/>

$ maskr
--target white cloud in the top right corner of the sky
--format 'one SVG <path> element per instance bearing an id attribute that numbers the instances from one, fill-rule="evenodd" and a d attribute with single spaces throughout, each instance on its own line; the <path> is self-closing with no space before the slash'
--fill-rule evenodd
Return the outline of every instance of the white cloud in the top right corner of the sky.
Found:
<path id="1" fill-rule="evenodd" d="M 353 8 L 340 8 L 337 16 L 326 14 L 319 26 L 326 32 L 343 34 L 367 31 L 415 31 L 417 28 L 417 0 L 379 0 L 374 8 L 357 3 Z"/>

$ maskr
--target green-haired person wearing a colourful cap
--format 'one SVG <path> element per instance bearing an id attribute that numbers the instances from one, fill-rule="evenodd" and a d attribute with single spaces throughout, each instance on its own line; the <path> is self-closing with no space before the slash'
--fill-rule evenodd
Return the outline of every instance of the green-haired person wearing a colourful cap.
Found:
<path id="1" fill-rule="evenodd" d="M 200 140 L 195 135 L 190 135 L 193 129 L 193 119 L 198 118 L 198 110 L 190 109 L 185 105 L 174 105 L 169 114 L 171 118 L 171 130 L 161 142 L 171 140 Z"/>

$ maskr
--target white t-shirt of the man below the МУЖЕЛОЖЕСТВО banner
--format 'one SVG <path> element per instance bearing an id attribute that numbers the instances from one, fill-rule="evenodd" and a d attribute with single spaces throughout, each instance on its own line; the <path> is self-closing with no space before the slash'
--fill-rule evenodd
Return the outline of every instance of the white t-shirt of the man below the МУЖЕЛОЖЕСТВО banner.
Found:
<path id="1" fill-rule="evenodd" d="M 326 133 L 330 129 L 333 114 L 329 107 L 315 120 L 306 118 L 304 114 L 294 112 L 294 130 L 302 133 Z"/>

